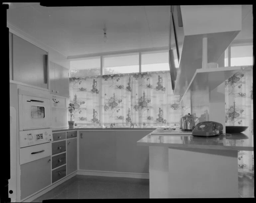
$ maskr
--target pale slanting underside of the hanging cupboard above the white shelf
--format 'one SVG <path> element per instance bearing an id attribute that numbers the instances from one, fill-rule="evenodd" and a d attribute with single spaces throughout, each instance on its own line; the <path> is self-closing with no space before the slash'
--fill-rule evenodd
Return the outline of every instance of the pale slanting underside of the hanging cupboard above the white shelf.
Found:
<path id="1" fill-rule="evenodd" d="M 175 95 L 184 95 L 196 70 L 202 68 L 202 39 L 207 37 L 207 61 L 217 62 L 239 31 L 185 35 L 180 65 L 177 69 Z"/>

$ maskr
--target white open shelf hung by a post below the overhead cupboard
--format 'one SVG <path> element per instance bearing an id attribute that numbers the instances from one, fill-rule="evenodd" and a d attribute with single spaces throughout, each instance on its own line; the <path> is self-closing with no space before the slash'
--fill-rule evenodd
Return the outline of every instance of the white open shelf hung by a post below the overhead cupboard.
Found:
<path id="1" fill-rule="evenodd" d="M 208 69 L 196 69 L 191 82 L 189 83 L 187 89 L 184 92 L 186 95 L 188 92 L 206 89 L 209 91 L 215 89 L 237 71 L 251 68 L 251 66 L 231 66 L 231 67 L 221 67 L 221 68 L 208 68 Z M 184 98 L 184 95 L 181 101 Z"/>

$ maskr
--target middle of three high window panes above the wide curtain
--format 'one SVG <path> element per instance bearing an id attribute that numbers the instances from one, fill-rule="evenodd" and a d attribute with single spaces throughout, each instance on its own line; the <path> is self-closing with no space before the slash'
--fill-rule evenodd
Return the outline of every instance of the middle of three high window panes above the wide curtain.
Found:
<path id="1" fill-rule="evenodd" d="M 139 53 L 103 57 L 103 75 L 139 72 Z"/>

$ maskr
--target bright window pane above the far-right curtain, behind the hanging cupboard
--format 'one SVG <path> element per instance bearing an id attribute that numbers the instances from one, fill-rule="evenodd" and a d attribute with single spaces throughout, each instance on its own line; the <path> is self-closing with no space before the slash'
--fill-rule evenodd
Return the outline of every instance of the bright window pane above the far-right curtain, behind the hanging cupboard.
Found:
<path id="1" fill-rule="evenodd" d="M 253 45 L 232 46 L 231 66 L 253 65 Z"/>

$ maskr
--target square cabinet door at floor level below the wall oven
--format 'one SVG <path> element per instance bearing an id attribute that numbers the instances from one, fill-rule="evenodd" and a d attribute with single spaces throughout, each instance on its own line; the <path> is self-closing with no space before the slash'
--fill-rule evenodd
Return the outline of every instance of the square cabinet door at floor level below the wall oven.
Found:
<path id="1" fill-rule="evenodd" d="M 21 165 L 21 200 L 51 184 L 51 156 Z"/>

